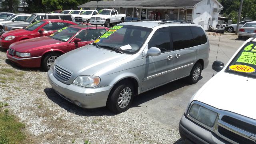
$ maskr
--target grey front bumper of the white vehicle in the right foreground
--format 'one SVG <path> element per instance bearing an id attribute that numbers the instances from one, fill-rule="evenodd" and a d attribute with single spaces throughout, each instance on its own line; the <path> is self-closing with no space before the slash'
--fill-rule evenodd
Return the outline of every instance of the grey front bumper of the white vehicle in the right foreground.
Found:
<path id="1" fill-rule="evenodd" d="M 179 124 L 180 137 L 191 144 L 225 144 L 218 136 L 215 136 L 198 124 L 189 120 L 185 115 L 182 116 Z"/>

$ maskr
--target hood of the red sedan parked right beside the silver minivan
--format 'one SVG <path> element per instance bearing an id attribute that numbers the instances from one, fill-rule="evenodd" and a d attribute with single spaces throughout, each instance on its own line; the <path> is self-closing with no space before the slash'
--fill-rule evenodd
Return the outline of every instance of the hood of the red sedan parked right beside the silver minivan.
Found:
<path id="1" fill-rule="evenodd" d="M 62 41 L 55 40 L 48 36 L 43 36 L 39 38 L 31 38 L 27 40 L 14 42 L 13 44 L 10 45 L 9 48 L 18 52 L 28 52 L 32 50 L 38 50 L 41 48 L 49 48 L 51 47 L 50 45 L 54 45 L 58 43 L 62 43 Z"/>

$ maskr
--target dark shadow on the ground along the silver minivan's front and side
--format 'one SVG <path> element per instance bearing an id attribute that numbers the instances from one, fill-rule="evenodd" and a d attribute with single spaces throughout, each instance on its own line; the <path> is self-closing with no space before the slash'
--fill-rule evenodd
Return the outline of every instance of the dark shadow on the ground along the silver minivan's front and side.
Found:
<path id="1" fill-rule="evenodd" d="M 200 80 L 202 79 L 202 76 L 200 76 Z M 160 86 L 158 88 L 155 88 L 153 90 L 150 90 L 148 92 L 142 93 L 138 96 L 134 97 L 134 101 L 132 103 L 132 107 L 140 107 L 139 105 L 148 102 L 150 100 L 153 100 L 154 98 L 157 98 L 159 96 L 162 96 L 164 94 L 167 94 L 169 92 L 172 92 L 174 90 L 177 90 L 179 88 L 182 88 L 184 86 L 187 86 L 187 81 L 185 78 L 182 78 L 180 80 L 176 80 L 175 82 L 170 82 L 168 84 L 165 84 L 164 86 Z M 45 88 L 44 89 L 45 94 L 48 96 L 50 100 L 58 104 L 60 107 L 64 108 L 68 112 L 72 112 L 74 114 L 80 115 L 80 116 L 114 116 L 116 114 L 110 112 L 106 107 L 103 108 L 94 108 L 94 109 L 85 109 L 80 108 L 79 106 L 76 106 L 75 104 L 72 104 L 59 96 L 53 88 Z"/>

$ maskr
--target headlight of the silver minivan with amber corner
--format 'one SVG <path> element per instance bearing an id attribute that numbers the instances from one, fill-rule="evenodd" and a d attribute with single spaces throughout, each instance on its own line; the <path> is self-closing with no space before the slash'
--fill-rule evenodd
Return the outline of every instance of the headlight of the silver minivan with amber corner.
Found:
<path id="1" fill-rule="evenodd" d="M 98 76 L 78 76 L 73 84 L 82 86 L 85 88 L 93 88 L 100 84 L 100 77 Z"/>

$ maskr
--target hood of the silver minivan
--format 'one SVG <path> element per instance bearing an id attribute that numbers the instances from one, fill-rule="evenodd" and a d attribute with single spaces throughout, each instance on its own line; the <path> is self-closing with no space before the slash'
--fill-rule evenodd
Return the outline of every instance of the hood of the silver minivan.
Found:
<path id="1" fill-rule="evenodd" d="M 73 72 L 73 76 L 76 78 L 80 75 L 92 76 L 99 70 L 130 56 L 130 54 L 120 54 L 87 45 L 58 57 L 56 64 Z"/>

